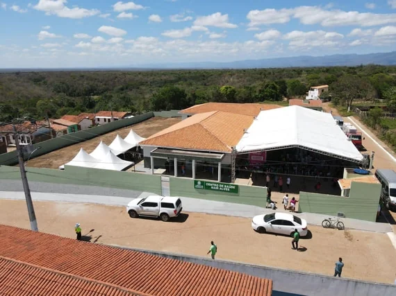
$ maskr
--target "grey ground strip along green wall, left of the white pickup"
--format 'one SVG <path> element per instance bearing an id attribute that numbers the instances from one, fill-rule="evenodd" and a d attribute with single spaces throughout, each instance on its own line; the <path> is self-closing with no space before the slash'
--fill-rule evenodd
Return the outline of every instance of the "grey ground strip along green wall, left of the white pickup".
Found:
<path id="1" fill-rule="evenodd" d="M 141 191 L 115 189 L 99 186 L 83 186 L 74 184 L 56 184 L 44 182 L 29 182 L 31 192 L 85 194 L 119 196 L 122 198 L 138 198 Z M 22 180 L 0 180 L 1 191 L 24 191 Z"/>

